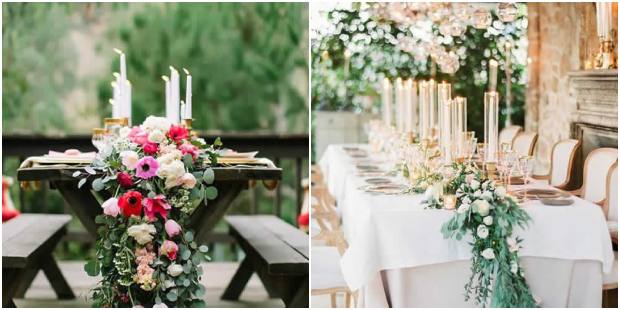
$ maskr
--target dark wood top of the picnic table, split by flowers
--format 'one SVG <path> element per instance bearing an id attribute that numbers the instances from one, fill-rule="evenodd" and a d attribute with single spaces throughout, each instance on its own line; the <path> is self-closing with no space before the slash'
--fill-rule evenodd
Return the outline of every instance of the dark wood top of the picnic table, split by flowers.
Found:
<path id="1" fill-rule="evenodd" d="M 243 181 L 243 180 L 280 180 L 282 169 L 274 167 L 213 167 L 215 181 Z M 76 171 L 84 171 L 83 166 L 38 166 L 20 168 L 17 170 L 19 181 L 77 181 L 73 177 Z"/>

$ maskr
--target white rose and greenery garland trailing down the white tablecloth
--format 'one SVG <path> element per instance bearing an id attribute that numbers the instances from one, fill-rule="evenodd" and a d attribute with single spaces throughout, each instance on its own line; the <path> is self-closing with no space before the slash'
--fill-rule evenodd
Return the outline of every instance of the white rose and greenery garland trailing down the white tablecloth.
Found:
<path id="1" fill-rule="evenodd" d="M 472 274 L 465 285 L 465 300 L 473 295 L 482 307 L 537 307 L 519 265 L 522 240 L 512 236 L 515 226 L 527 227 L 529 215 L 480 169 L 462 163 L 452 168 L 455 177 L 447 181 L 446 191 L 456 194 L 456 212 L 441 232 L 456 240 L 472 235 Z M 442 205 L 439 196 L 432 194 L 438 190 L 429 188 L 428 205 Z"/>

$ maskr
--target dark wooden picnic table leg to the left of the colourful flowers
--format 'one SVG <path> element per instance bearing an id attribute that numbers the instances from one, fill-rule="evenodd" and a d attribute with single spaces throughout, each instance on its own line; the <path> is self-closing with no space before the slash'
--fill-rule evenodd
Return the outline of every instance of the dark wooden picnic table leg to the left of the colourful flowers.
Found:
<path id="1" fill-rule="evenodd" d="M 74 181 L 54 181 L 54 186 L 69 203 L 73 212 L 78 217 L 82 225 L 93 236 L 97 237 L 97 224 L 95 217 L 103 211 L 90 190 L 89 184 L 84 184 L 82 188 L 77 187 Z"/>

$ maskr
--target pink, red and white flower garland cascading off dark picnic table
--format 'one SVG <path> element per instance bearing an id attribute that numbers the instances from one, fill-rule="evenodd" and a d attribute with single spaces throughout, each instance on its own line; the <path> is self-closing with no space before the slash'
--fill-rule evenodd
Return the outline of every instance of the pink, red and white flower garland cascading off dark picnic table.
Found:
<path id="1" fill-rule="evenodd" d="M 211 166 L 219 139 L 203 139 L 166 118 L 149 116 L 110 138 L 78 186 L 112 193 L 97 216 L 96 257 L 86 263 L 95 307 L 204 307 L 200 284 L 208 248 L 186 228 L 203 201 L 215 199 Z M 101 176 L 102 175 L 102 176 Z"/>

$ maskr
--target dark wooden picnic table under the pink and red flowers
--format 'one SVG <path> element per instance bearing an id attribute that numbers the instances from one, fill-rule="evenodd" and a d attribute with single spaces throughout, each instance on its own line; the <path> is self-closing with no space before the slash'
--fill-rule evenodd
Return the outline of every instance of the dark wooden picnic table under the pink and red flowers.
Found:
<path id="1" fill-rule="evenodd" d="M 198 241 L 206 237 L 222 219 L 230 208 L 232 201 L 239 193 L 249 188 L 251 181 L 263 181 L 267 187 L 275 188 L 282 178 L 282 169 L 273 167 L 213 167 L 215 180 L 213 186 L 218 190 L 214 200 L 203 202 L 190 217 L 189 228 L 193 229 Z M 78 188 L 80 178 L 73 177 L 76 171 L 84 171 L 84 167 L 71 166 L 38 166 L 20 168 L 17 179 L 20 182 L 49 182 L 50 188 L 57 189 L 74 211 L 86 230 L 97 238 L 95 217 L 102 213 L 101 203 L 111 197 L 106 191 L 95 192 L 90 182 Z"/>

